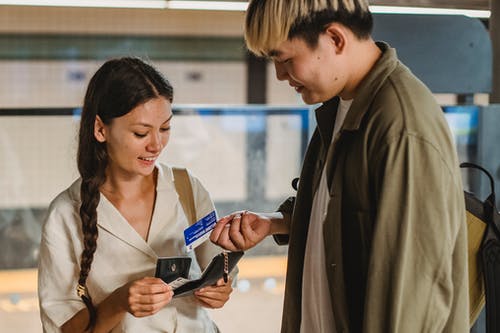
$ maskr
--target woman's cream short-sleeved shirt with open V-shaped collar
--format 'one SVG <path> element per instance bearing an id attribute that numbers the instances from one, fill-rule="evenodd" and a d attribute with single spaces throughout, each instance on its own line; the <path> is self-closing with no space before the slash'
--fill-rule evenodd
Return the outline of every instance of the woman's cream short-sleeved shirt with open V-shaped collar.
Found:
<path id="1" fill-rule="evenodd" d="M 196 260 L 194 251 L 186 253 L 183 231 L 187 218 L 179 202 L 172 169 L 159 165 L 156 203 L 148 240 L 145 241 L 120 212 L 101 195 L 97 207 L 99 236 L 97 250 L 87 279 L 93 303 L 98 304 L 115 289 L 132 280 L 154 276 L 158 257 L 192 257 L 190 277 L 221 249 L 205 242 L 206 259 Z M 197 219 L 213 211 L 214 205 L 199 180 L 190 175 Z M 38 271 L 38 295 L 44 332 L 60 332 L 60 326 L 85 304 L 76 294 L 82 253 L 81 221 L 78 214 L 81 180 L 75 181 L 50 204 L 43 227 Z M 198 250 L 198 248 L 197 248 Z M 201 267 L 200 267 L 201 266 Z M 172 300 L 158 313 L 136 318 L 127 313 L 112 330 L 118 332 L 216 332 L 208 312 L 194 296 Z"/>

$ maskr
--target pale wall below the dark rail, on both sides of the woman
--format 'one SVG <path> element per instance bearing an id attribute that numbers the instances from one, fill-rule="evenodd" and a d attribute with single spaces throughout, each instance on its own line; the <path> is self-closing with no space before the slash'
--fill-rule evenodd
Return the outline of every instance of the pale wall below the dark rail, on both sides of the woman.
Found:
<path id="1" fill-rule="evenodd" d="M 246 141 L 251 121 L 241 113 L 176 115 L 160 161 L 188 167 L 215 201 L 250 200 L 251 165 L 266 175 L 266 199 L 282 200 L 299 173 L 302 123 L 298 116 L 267 117 L 266 155 L 255 163 Z M 72 116 L 0 117 L 0 208 L 46 207 L 78 177 L 78 123 Z"/>

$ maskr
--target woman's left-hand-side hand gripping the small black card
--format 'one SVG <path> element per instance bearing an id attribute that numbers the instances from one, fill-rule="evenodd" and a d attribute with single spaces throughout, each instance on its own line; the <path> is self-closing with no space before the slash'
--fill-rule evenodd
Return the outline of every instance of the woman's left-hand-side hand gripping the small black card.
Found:
<path id="1" fill-rule="evenodd" d="M 135 317 L 151 316 L 170 303 L 174 292 L 163 280 L 145 277 L 118 290 L 120 306 Z"/>

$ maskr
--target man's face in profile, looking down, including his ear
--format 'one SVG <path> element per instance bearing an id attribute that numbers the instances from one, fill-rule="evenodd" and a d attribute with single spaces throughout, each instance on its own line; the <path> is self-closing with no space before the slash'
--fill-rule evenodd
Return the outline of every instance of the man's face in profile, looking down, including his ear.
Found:
<path id="1" fill-rule="evenodd" d="M 346 84 L 344 52 L 328 34 L 319 36 L 314 49 L 301 38 L 284 41 L 270 52 L 270 57 L 278 80 L 287 80 L 307 104 L 331 99 Z"/>

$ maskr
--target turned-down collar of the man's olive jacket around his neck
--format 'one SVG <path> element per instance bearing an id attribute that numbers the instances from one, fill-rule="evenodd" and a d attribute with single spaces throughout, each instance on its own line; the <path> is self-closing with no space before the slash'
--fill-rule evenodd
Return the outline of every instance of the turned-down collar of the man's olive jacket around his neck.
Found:
<path id="1" fill-rule="evenodd" d="M 377 60 L 373 68 L 360 82 L 354 101 L 352 102 L 343 129 L 355 131 L 359 129 L 361 121 L 367 112 L 373 98 L 385 82 L 387 77 L 394 71 L 399 64 L 396 50 L 384 42 L 377 42 L 377 46 L 382 51 L 382 55 Z M 331 141 L 339 97 L 335 96 L 316 109 L 316 122 L 323 142 Z"/>

